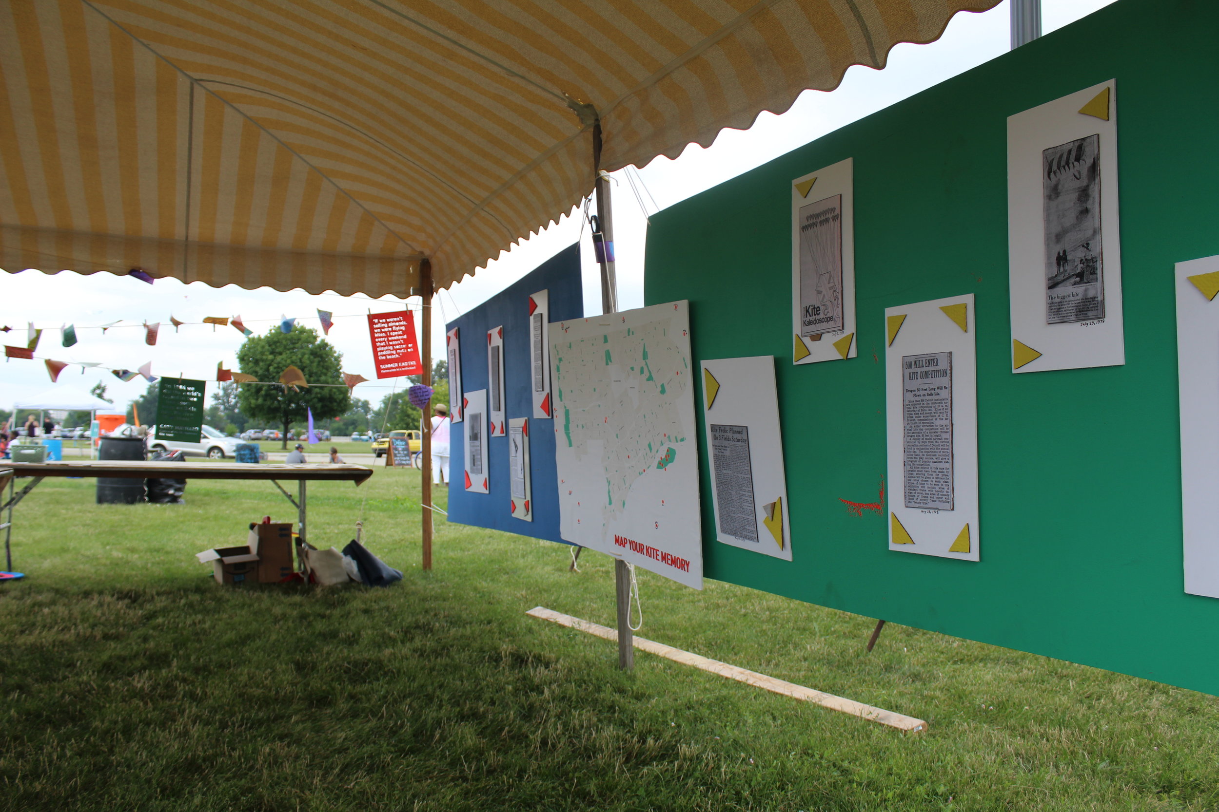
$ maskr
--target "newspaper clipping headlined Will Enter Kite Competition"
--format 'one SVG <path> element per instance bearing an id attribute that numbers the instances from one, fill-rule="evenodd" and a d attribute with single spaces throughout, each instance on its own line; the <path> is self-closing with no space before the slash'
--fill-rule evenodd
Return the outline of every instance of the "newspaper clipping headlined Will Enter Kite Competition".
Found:
<path id="1" fill-rule="evenodd" d="M 906 506 L 952 510 L 951 352 L 902 355 L 902 426 Z"/>

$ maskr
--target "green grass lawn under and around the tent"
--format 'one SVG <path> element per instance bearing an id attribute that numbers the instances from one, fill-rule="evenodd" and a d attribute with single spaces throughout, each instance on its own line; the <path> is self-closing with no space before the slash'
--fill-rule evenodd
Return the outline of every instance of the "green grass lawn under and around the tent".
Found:
<path id="1" fill-rule="evenodd" d="M 613 625 L 611 560 L 440 521 L 418 474 L 310 487 L 311 541 L 389 589 L 217 586 L 194 553 L 295 511 L 269 483 L 95 505 L 48 480 L 0 586 L 2 810 L 1219 810 L 1219 700 L 640 572 L 640 634 L 930 722 L 903 735 L 524 615 Z"/>

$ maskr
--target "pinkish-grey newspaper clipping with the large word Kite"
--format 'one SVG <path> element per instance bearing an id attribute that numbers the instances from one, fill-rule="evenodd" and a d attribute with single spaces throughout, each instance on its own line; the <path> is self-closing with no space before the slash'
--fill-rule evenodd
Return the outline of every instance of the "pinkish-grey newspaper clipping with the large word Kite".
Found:
<path id="1" fill-rule="evenodd" d="M 800 207 L 800 335 L 842 329 L 842 195 Z"/>

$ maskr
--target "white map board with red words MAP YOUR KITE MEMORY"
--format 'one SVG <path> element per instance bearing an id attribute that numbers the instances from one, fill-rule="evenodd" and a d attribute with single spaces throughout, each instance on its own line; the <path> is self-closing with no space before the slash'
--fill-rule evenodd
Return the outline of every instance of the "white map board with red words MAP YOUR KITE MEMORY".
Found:
<path id="1" fill-rule="evenodd" d="M 702 588 L 689 303 L 556 321 L 560 534 Z"/>

